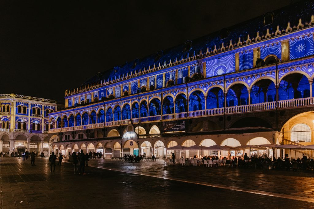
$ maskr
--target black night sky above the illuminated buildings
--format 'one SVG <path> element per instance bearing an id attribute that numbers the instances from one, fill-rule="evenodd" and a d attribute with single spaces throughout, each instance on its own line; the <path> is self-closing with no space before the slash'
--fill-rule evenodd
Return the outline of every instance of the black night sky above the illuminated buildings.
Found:
<path id="1" fill-rule="evenodd" d="M 79 87 L 97 72 L 288 4 L 2 0 L 0 94 L 14 91 L 64 102 L 66 89 Z"/>

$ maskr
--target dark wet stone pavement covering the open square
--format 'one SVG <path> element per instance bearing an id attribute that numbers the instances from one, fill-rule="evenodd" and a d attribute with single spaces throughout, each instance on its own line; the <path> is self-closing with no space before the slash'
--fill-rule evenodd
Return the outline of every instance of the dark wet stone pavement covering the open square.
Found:
<path id="1" fill-rule="evenodd" d="M 309 201 L 292 200 L 268 195 L 253 194 L 211 186 L 167 180 L 151 176 L 85 167 L 87 175 L 73 173 L 73 165 L 63 163 L 51 173 L 47 158 L 36 158 L 36 166 L 18 158 L 2 158 L 0 162 L 1 208 L 307 208 Z M 89 165 L 128 171 L 143 170 L 149 174 L 162 173 L 178 178 L 195 179 L 196 176 L 234 174 L 236 179 L 243 171 L 218 168 L 164 166 L 161 162 L 128 164 L 111 160 L 90 160 Z M 204 170 L 207 169 L 206 173 Z M 152 170 L 152 171 L 150 171 Z M 189 174 L 192 174 L 189 176 Z M 253 173 L 245 173 L 252 175 Z M 262 174 L 258 173 L 260 176 Z M 160 174 L 159 174 L 160 175 Z M 274 175 L 264 174 L 263 179 Z M 269 175 L 269 176 L 268 176 Z M 217 176 L 218 177 L 218 176 Z M 298 176 L 293 176 L 297 178 Z M 216 178 L 213 177 L 213 178 Z M 234 177 L 235 178 L 235 177 Z M 309 178 L 309 177 L 302 177 Z M 218 178 L 219 179 L 219 178 Z M 229 178 L 226 178 L 228 181 Z M 290 187 L 290 181 L 285 181 Z M 224 182 L 219 182 L 224 183 Z M 228 182 L 227 182 L 228 183 Z M 254 184 L 254 182 L 249 182 Z M 231 184 L 231 183 L 230 183 Z M 258 187 L 259 182 L 257 182 Z M 278 188 L 277 186 L 274 189 Z M 299 198 L 296 198 L 299 199 Z"/>

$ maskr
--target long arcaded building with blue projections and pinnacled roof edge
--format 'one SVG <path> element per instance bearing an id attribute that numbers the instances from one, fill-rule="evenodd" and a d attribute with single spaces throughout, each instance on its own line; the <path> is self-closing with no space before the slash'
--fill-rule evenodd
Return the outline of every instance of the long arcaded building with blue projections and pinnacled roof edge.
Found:
<path id="1" fill-rule="evenodd" d="M 313 11 L 293 4 L 98 73 L 49 114 L 53 149 L 111 158 L 177 144 L 313 144 Z"/>

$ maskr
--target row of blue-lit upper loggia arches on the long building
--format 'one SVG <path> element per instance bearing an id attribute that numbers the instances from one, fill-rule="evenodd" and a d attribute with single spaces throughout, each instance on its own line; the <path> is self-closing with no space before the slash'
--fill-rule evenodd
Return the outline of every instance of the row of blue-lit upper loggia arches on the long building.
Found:
<path id="1" fill-rule="evenodd" d="M 311 97 L 312 82 L 306 74 L 290 73 L 281 78 L 278 87 L 278 99 L 288 100 L 297 98 Z M 189 93 L 188 99 L 186 93 L 177 95 L 166 95 L 163 101 L 159 97 L 154 97 L 148 101 L 134 101 L 132 104 L 126 103 L 122 107 L 108 107 L 106 112 L 100 108 L 97 112 L 71 114 L 70 116 L 58 117 L 56 121 L 52 119 L 50 128 L 56 123 L 57 128 L 88 125 L 94 123 L 104 123 L 119 121 L 131 118 L 142 118 L 147 116 L 156 116 L 173 114 L 187 111 L 198 111 L 204 109 L 213 109 L 248 104 L 257 104 L 263 102 L 276 101 L 276 88 L 274 79 L 271 77 L 259 78 L 252 87 L 242 81 L 230 85 L 224 94 L 221 86 L 214 86 L 207 92 L 203 89 L 195 89 Z"/>

